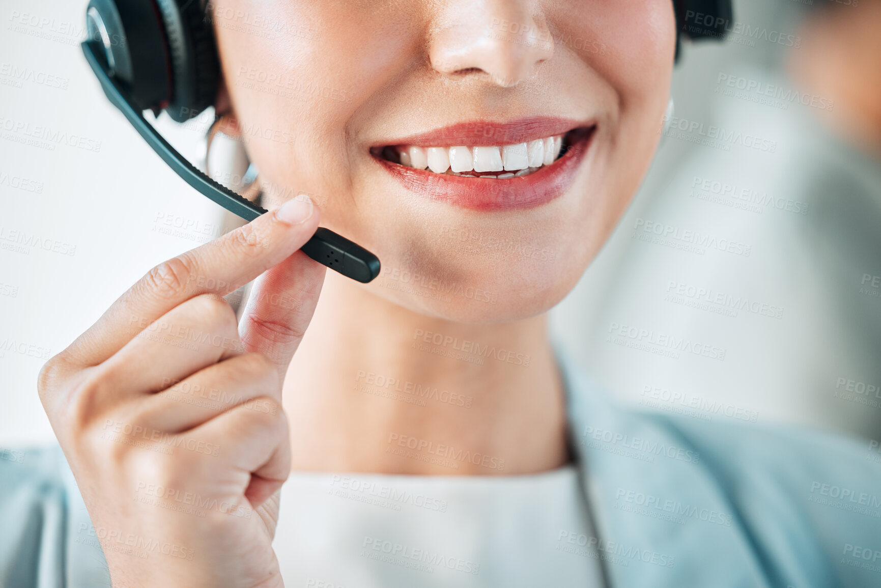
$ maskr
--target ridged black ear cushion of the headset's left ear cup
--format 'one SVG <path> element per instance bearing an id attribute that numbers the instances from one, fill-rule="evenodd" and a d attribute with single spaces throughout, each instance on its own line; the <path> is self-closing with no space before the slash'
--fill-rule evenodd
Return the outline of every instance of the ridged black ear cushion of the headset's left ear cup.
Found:
<path id="1" fill-rule="evenodd" d="M 183 123 L 217 98 L 220 64 L 211 19 L 205 18 L 198 0 L 156 0 L 156 4 L 165 23 L 174 82 L 166 112 Z"/>

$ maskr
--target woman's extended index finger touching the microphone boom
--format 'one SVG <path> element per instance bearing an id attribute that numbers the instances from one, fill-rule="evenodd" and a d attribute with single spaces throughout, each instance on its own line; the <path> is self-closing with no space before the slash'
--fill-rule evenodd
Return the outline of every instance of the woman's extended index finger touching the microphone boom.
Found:
<path id="1" fill-rule="evenodd" d="M 157 265 L 62 352 L 65 359 L 81 366 L 106 361 L 181 302 L 199 294 L 229 294 L 285 260 L 317 227 L 312 201 L 295 197 L 243 227 Z M 136 320 L 136 329 L 125 328 Z"/>

